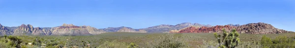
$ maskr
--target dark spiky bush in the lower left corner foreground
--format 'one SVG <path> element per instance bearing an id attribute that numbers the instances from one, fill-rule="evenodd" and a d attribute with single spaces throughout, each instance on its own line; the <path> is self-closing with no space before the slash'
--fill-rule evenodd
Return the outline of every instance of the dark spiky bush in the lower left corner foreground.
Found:
<path id="1" fill-rule="evenodd" d="M 8 45 L 15 48 L 21 48 L 20 44 L 23 42 L 21 38 L 9 35 L 8 39 L 10 40 Z"/>

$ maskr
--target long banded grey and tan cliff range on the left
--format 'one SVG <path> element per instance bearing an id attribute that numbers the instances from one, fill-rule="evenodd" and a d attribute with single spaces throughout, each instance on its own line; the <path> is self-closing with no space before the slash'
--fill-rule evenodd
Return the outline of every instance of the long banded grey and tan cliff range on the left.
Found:
<path id="1" fill-rule="evenodd" d="M 0 26 L 0 33 L 2 34 L 13 34 L 13 35 L 95 35 L 104 33 L 104 31 L 90 27 L 90 26 L 75 26 L 73 24 L 63 24 L 59 27 L 54 28 L 34 28 L 32 25 L 22 24 L 14 31 L 9 31 L 4 26 Z M 3 32 L 3 33 L 2 33 Z M 5 33 L 4 33 L 5 32 Z"/>

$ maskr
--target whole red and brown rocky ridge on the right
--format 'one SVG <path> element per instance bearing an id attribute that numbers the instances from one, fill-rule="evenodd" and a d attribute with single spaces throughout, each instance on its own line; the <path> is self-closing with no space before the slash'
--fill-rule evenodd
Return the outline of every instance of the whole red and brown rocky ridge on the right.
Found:
<path id="1" fill-rule="evenodd" d="M 222 32 L 222 29 L 225 29 L 227 32 L 232 31 L 233 29 L 236 29 L 237 32 L 239 33 L 248 33 L 248 34 L 273 34 L 273 33 L 286 33 L 290 31 L 285 31 L 285 30 L 280 30 L 277 28 L 274 28 L 270 24 L 266 23 L 250 23 L 246 25 L 241 25 L 236 27 L 232 25 L 225 25 L 225 26 L 214 26 L 214 27 L 201 27 L 201 28 L 196 28 L 196 27 L 188 27 L 185 29 L 180 30 L 180 33 L 185 33 L 185 32 L 206 32 L 206 33 L 211 33 L 211 32 Z"/>

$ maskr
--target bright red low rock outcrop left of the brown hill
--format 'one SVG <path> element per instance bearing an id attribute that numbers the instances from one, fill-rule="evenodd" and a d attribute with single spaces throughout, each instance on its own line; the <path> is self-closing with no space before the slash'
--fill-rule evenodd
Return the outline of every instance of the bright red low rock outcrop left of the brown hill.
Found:
<path id="1" fill-rule="evenodd" d="M 214 26 L 214 27 L 201 27 L 201 28 L 196 28 L 196 27 L 188 27 L 185 28 L 183 30 L 180 30 L 180 33 L 184 33 L 184 32 L 193 32 L 193 33 L 197 33 L 197 32 L 205 32 L 205 33 L 210 33 L 210 32 L 222 32 L 222 29 L 225 30 L 232 30 L 235 29 L 236 27 L 234 26 Z"/>

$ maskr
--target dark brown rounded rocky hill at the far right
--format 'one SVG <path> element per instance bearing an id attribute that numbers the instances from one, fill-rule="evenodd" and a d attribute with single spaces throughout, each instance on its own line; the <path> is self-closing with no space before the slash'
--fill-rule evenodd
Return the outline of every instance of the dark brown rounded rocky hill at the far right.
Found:
<path id="1" fill-rule="evenodd" d="M 236 30 L 240 33 L 249 33 L 249 34 L 273 34 L 273 33 L 290 32 L 290 31 L 274 28 L 270 24 L 266 24 L 262 22 L 250 23 L 250 24 L 238 26 Z"/>

